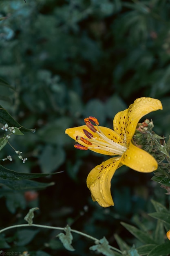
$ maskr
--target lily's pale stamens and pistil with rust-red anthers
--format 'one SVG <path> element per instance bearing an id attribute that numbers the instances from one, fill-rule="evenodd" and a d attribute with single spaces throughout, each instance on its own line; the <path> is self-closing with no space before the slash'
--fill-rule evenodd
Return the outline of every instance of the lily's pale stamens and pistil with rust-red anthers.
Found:
<path id="1" fill-rule="evenodd" d="M 102 132 L 97 118 L 87 117 L 84 119 L 84 122 L 91 132 L 83 129 L 85 136 L 76 136 L 76 140 L 79 141 L 80 144 L 82 144 L 82 142 L 84 143 L 83 147 L 76 145 L 76 148 L 81 150 L 98 149 L 99 151 L 101 150 L 101 153 L 103 153 L 104 150 L 106 154 L 108 153 L 108 155 L 123 155 L 123 153 L 126 152 L 126 146 L 115 142 L 113 139 L 110 139 L 107 135 L 105 135 L 104 132 Z M 95 124 L 95 126 L 92 124 L 92 122 Z"/>

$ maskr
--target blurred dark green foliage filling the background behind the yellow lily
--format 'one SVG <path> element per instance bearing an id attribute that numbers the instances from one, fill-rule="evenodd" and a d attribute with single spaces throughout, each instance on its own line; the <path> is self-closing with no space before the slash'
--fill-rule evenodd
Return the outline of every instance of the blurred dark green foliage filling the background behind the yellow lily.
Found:
<path id="1" fill-rule="evenodd" d="M 145 213 L 153 209 L 150 198 L 165 205 L 169 198 L 150 181 L 152 174 L 121 167 L 112 184 L 115 206 L 99 207 L 86 177 L 106 156 L 75 150 L 64 131 L 82 125 L 89 115 L 112 128 L 118 111 L 145 96 L 163 103 L 163 111 L 148 115 L 155 132 L 170 133 L 169 0 L 1 0 L 0 78 L 10 85 L 0 81 L 0 104 L 20 124 L 36 128 L 10 139 L 28 161 L 22 164 L 6 146 L 0 158 L 12 155 L 13 162 L 4 166 L 25 173 L 64 171 L 40 179 L 55 185 L 38 193 L 3 187 L 1 227 L 23 223 L 28 209 L 38 206 L 36 223 L 68 223 L 97 238 L 106 236 L 115 246 L 114 234 L 134 243 L 120 221 L 133 223 L 144 216 L 148 229 L 155 228 Z M 23 230 L 15 232 L 7 232 L 7 240 L 0 236 L 4 249 L 84 256 L 91 246 L 75 235 L 76 251 L 66 252 L 56 231 L 32 230 L 25 240 Z"/>

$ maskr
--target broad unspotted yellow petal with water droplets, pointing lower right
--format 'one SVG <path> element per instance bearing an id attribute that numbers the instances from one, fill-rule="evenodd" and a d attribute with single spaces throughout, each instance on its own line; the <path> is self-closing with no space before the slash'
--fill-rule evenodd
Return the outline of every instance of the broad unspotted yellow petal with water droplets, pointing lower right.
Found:
<path id="1" fill-rule="evenodd" d="M 150 173 L 158 167 L 157 161 L 152 155 L 133 145 L 132 142 L 122 156 L 121 163 L 141 173 Z"/>

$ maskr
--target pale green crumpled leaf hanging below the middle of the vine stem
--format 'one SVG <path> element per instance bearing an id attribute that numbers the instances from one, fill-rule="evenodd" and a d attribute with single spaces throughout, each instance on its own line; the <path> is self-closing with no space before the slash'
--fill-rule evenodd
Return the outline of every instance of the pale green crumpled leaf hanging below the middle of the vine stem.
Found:
<path id="1" fill-rule="evenodd" d="M 62 242 L 62 244 L 64 245 L 64 247 L 68 250 L 68 251 L 75 251 L 75 249 L 73 248 L 73 246 L 71 245 L 72 240 L 73 240 L 73 236 L 71 234 L 71 228 L 67 225 L 64 228 L 64 231 L 66 234 L 64 233 L 60 233 L 59 235 L 57 235 L 57 237 L 60 239 L 60 241 Z"/>

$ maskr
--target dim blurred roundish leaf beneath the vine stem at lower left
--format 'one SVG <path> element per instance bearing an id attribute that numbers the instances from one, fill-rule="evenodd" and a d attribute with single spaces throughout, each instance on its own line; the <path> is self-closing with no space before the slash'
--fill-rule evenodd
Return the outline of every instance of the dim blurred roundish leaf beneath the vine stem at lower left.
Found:
<path id="1" fill-rule="evenodd" d="M 27 245 L 33 240 L 38 232 L 38 230 L 21 229 L 17 232 L 18 241 L 15 243 L 19 246 Z"/>

